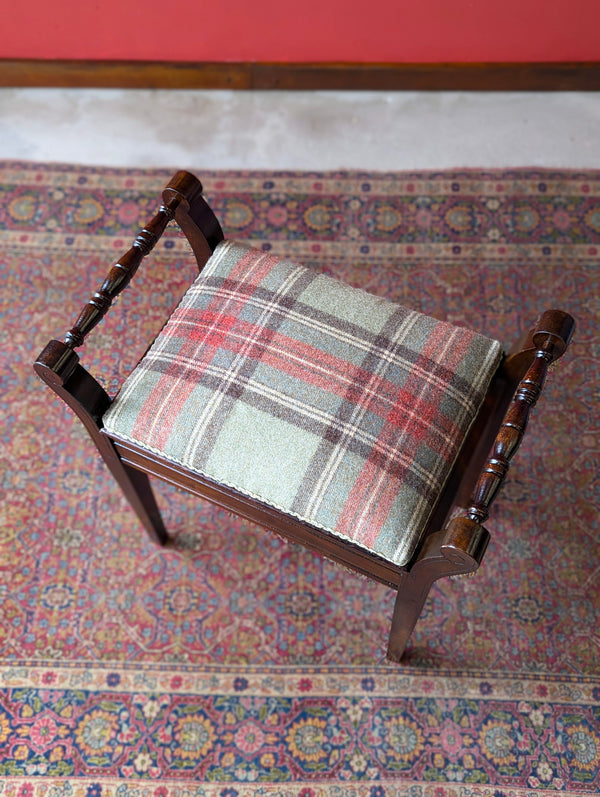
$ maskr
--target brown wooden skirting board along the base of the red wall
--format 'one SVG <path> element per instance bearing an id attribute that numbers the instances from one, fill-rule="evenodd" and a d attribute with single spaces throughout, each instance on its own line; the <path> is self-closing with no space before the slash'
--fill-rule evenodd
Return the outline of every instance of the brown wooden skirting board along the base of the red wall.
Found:
<path id="1" fill-rule="evenodd" d="M 599 91 L 600 61 L 364 64 L 0 59 L 0 86 L 288 91 Z"/>

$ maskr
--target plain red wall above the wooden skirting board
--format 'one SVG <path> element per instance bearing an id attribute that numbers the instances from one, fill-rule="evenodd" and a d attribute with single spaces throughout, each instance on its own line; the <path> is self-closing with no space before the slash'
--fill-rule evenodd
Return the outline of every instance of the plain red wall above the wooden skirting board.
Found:
<path id="1" fill-rule="evenodd" d="M 0 57 L 600 60 L 600 0 L 0 0 Z"/>

